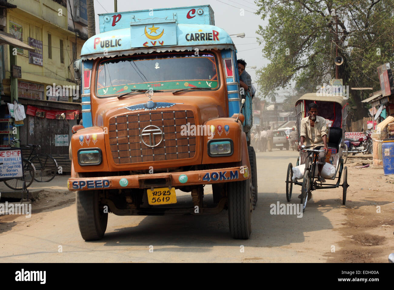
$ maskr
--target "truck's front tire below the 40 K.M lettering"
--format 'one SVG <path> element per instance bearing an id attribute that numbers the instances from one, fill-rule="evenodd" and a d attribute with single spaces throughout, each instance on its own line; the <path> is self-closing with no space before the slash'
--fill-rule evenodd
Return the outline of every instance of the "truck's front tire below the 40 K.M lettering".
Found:
<path id="1" fill-rule="evenodd" d="M 229 227 L 234 239 L 249 239 L 252 232 L 253 196 L 250 181 L 227 183 Z"/>

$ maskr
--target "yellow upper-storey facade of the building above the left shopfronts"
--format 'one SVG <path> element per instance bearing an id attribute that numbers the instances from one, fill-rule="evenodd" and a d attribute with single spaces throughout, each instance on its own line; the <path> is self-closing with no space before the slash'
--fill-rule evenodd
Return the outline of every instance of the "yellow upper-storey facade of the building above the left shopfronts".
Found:
<path id="1" fill-rule="evenodd" d="M 37 47 L 36 52 L 33 53 L 17 50 L 17 65 L 21 67 L 22 74 L 18 79 L 21 84 L 18 92 L 19 98 L 55 101 L 56 96 L 47 93 L 48 86 L 77 85 L 74 82 L 72 64 L 73 60 L 79 58 L 82 45 L 87 39 L 87 27 L 81 25 L 78 27 L 76 24 L 77 36 L 69 30 L 69 19 L 72 22 L 72 17 L 65 0 L 56 2 L 54 0 L 15 0 L 12 3 L 17 8 L 8 10 L 4 32 L 13 34 L 32 47 Z M 7 79 L 11 69 L 7 67 L 9 51 L 5 50 L 5 52 L 7 52 L 7 57 L 5 55 L 4 59 Z M 24 82 L 37 84 L 37 86 L 27 86 Z M 33 89 L 39 90 L 33 92 L 35 91 Z M 56 101 L 71 102 L 72 97 L 60 95 Z"/>

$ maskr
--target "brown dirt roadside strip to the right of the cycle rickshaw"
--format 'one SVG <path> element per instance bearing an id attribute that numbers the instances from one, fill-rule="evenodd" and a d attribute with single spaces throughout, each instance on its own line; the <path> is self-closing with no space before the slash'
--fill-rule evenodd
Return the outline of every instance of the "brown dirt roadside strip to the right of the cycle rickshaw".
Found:
<path id="1" fill-rule="evenodd" d="M 330 262 L 387 262 L 387 253 L 394 252 L 394 175 L 384 176 L 381 167 L 357 168 L 361 163 L 368 160 L 346 164 L 351 184 L 342 213 L 346 221 L 335 229 L 344 240 L 339 255 L 327 255 Z"/>

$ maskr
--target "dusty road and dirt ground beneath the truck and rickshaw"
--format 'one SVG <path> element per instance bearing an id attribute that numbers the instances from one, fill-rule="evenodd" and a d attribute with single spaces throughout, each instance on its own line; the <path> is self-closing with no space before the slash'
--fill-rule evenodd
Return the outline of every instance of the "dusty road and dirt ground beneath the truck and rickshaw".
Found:
<path id="1" fill-rule="evenodd" d="M 257 153 L 259 199 L 249 240 L 230 238 L 223 211 L 110 214 L 104 238 L 85 242 L 75 195 L 66 191 L 67 179 L 57 177 L 33 203 L 31 218 L 0 217 L 0 262 L 387 262 L 394 252 L 394 176 L 383 176 L 381 168 L 349 168 L 346 206 L 340 187 L 314 191 L 302 218 L 271 215 L 270 204 L 287 203 L 286 169 L 296 159 L 296 152 L 286 150 Z M 290 203 L 299 203 L 300 189 L 294 186 Z"/>

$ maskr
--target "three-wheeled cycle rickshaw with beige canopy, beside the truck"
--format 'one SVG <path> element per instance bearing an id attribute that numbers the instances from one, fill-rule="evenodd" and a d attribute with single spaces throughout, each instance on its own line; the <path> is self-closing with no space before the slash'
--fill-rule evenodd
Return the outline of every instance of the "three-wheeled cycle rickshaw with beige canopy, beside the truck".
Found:
<path id="1" fill-rule="evenodd" d="M 335 180 L 336 183 L 322 183 L 317 181 L 315 176 L 317 175 L 317 157 L 319 150 L 307 150 L 309 152 L 308 157 L 305 160 L 301 160 L 303 154 L 299 154 L 297 159 L 297 165 L 305 163 L 305 171 L 303 174 L 303 180 L 293 181 L 293 165 L 289 163 L 287 168 L 286 176 L 286 199 L 289 202 L 292 197 L 293 184 L 301 186 L 301 205 L 303 211 L 307 205 L 308 195 L 315 189 L 329 189 L 338 188 L 342 186 L 342 204 L 346 203 L 346 191 L 348 188 L 348 168 L 344 167 L 344 160 L 342 158 L 342 151 L 344 148 L 344 135 L 346 128 L 346 117 L 348 114 L 348 103 L 340 95 L 325 95 L 318 96 L 316 93 L 305 94 L 300 97 L 296 102 L 296 126 L 298 134 L 300 132 L 301 119 L 309 116 L 308 106 L 310 103 L 316 103 L 318 105 L 318 116 L 322 116 L 326 119 L 327 123 L 327 146 L 329 152 L 326 155 L 326 162 L 331 163 L 335 166 L 335 174 L 332 178 L 325 178 L 327 180 Z M 298 140 L 300 136 L 298 135 Z M 338 176 L 337 176 L 338 175 Z M 343 183 L 341 182 L 341 177 Z"/>

